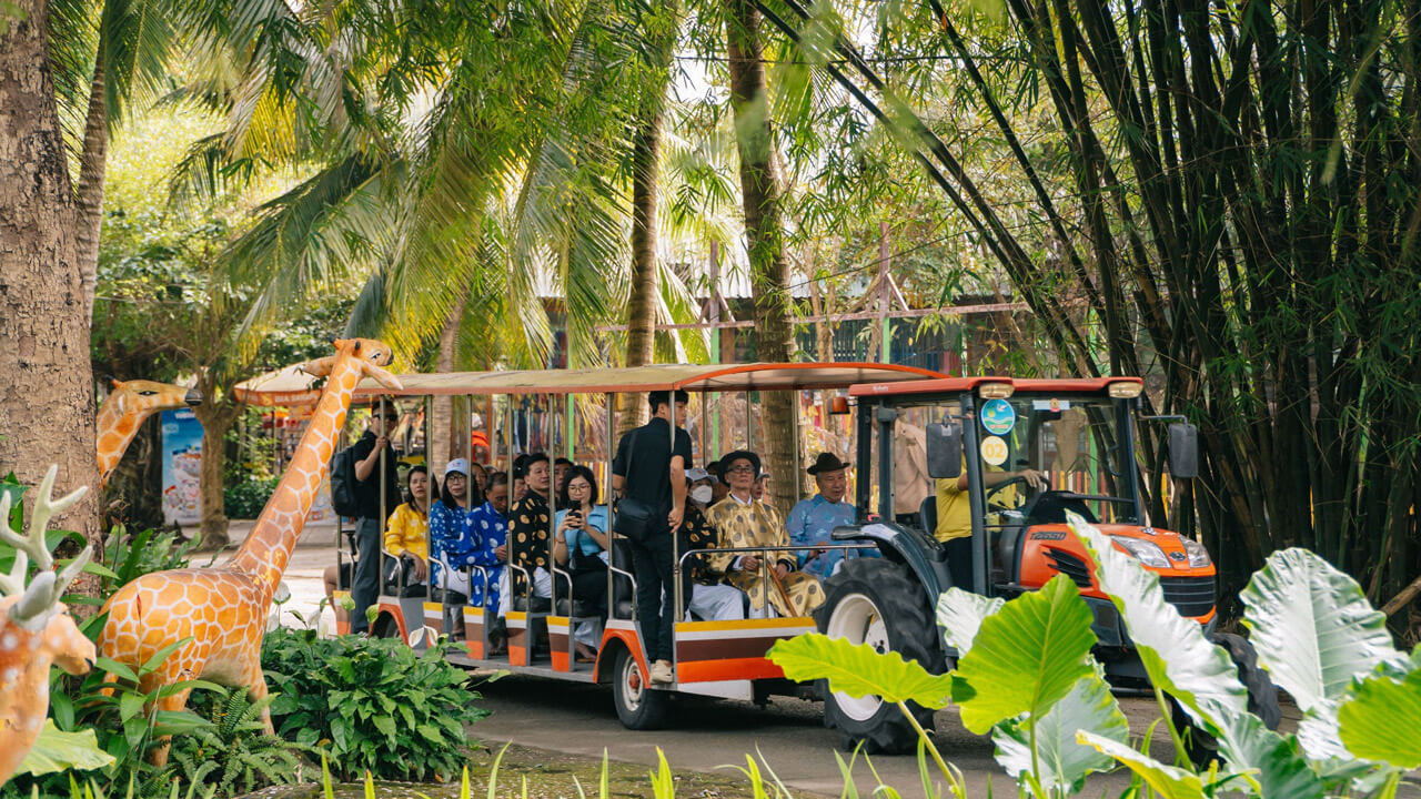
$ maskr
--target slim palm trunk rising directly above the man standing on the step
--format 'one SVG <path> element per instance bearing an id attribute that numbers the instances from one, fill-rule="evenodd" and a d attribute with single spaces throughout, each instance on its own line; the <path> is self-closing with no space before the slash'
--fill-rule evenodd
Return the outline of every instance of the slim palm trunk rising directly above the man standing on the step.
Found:
<path id="1" fill-rule="evenodd" d="M 637 127 L 631 162 L 631 297 L 627 299 L 627 365 L 651 363 L 657 343 L 657 169 L 661 163 L 662 102 L 648 102 Z M 621 394 L 617 438 L 641 425 L 647 402 L 641 394 Z"/>

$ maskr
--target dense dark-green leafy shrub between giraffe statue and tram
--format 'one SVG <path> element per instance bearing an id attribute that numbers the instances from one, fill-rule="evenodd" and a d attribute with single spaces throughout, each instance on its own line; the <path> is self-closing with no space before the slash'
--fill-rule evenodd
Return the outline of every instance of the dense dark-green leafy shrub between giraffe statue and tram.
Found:
<path id="1" fill-rule="evenodd" d="M 367 769 L 382 779 L 448 779 L 465 756 L 465 726 L 487 715 L 469 675 L 441 641 L 418 654 L 395 638 L 273 630 L 261 665 L 274 694 L 277 732 L 321 744 L 342 779 Z"/>

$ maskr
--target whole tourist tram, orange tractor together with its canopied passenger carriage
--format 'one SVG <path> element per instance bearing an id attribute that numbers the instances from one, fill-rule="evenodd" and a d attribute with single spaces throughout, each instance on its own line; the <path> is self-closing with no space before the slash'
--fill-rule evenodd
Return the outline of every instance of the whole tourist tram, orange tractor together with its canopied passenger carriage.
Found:
<path id="1" fill-rule="evenodd" d="M 1248 641 L 1215 634 L 1216 572 L 1209 553 L 1150 519 L 1147 485 L 1162 490 L 1165 485 L 1179 485 L 1178 481 L 1195 475 L 1196 432 L 1179 417 L 1141 415 L 1140 378 L 949 378 L 884 364 L 750 364 L 409 375 L 402 380 L 405 394 L 506 398 L 603 394 L 607 461 L 615 452 L 610 432 L 615 429 L 614 394 L 685 390 L 705 397 L 706 392 L 742 392 L 746 397 L 743 435 L 749 436 L 756 412 L 749 392 L 847 390 L 826 400 L 834 405 L 833 411 L 826 408 L 826 414 L 855 414 L 848 495 L 855 520 L 833 530 L 837 542 L 833 546 L 871 552 L 843 560 L 824 581 L 826 599 L 813 617 L 702 621 L 678 613 L 674 630 L 676 682 L 664 688 L 644 680 L 648 664 L 635 623 L 635 580 L 628 553 L 622 552 L 627 542 L 615 536 L 607 583 L 610 613 L 598 655 L 590 667 L 578 667 L 573 657 L 571 631 L 587 617 L 578 597 L 567 596 L 570 579 L 566 573 L 554 576 L 556 589 L 547 608 L 530 608 L 526 596 L 514 599 L 506 616 L 509 648 L 504 657 L 489 655 L 492 620 L 483 608 L 452 601 L 458 597 L 425 601 L 382 596 L 379 618 L 372 627 L 375 634 L 398 634 L 412 645 L 425 645 L 431 631 L 449 633 L 462 626 L 465 651 L 450 655 L 456 663 L 556 680 L 611 682 L 618 717 L 635 729 L 662 721 L 671 692 L 737 699 L 799 695 L 824 701 L 824 721 L 840 731 L 844 746 L 863 744 L 870 752 L 911 752 L 917 732 L 897 705 L 877 697 L 854 698 L 789 682 L 764 658 L 766 651 L 779 638 L 817 630 L 855 644 L 867 643 L 878 651 L 897 651 L 929 671 L 942 672 L 951 668 L 956 654 L 945 647 L 935 624 L 934 608 L 944 591 L 955 586 L 1010 599 L 1040 589 L 1056 574 L 1066 574 L 1080 587 L 1094 614 L 1096 654 L 1107 677 L 1115 685 L 1144 687 L 1138 651 L 1110 599 L 1101 593 L 1090 554 L 1066 525 L 1066 513 L 1076 512 L 1108 535 L 1117 549 L 1160 576 L 1165 600 L 1181 616 L 1202 626 L 1233 657 L 1249 691 L 1250 708 L 1270 726 L 1277 722 L 1276 692 L 1266 672 L 1256 667 Z M 510 415 L 504 431 L 514 429 L 512 407 L 506 404 Z M 567 407 L 571 408 L 571 402 Z M 705 402 L 701 411 L 705 414 Z M 1168 473 L 1150 478 L 1141 466 L 1137 425 L 1158 422 L 1171 422 Z M 554 436 L 561 427 L 551 427 Z M 716 429 L 702 418 L 702 439 Z M 752 442 L 745 441 L 745 445 L 749 448 Z M 708 451 L 718 455 L 722 449 L 710 449 L 702 442 L 701 451 L 703 462 Z M 801 466 L 803 459 L 799 463 Z M 772 475 L 772 479 L 797 478 Z M 945 522 L 938 519 L 939 508 L 951 513 Z M 676 553 L 678 574 L 679 564 L 691 554 Z M 470 577 L 480 579 L 477 573 Z M 679 593 L 679 579 L 676 587 Z M 678 601 L 676 607 L 684 604 Z M 534 657 L 536 643 L 544 634 L 550 651 L 539 658 Z M 918 722 L 931 729 L 931 711 L 909 707 Z"/>

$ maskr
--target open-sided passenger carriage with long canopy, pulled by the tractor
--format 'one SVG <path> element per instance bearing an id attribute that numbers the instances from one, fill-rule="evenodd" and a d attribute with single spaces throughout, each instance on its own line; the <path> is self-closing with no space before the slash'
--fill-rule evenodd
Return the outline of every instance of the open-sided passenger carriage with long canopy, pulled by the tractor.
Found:
<path id="1" fill-rule="evenodd" d="M 847 390 L 855 384 L 888 384 L 914 381 L 924 378 L 944 377 L 936 372 L 894 364 L 739 364 L 739 365 L 688 365 L 664 364 L 634 368 L 601 368 L 601 370 L 560 370 L 560 371 L 495 371 L 495 372 L 446 372 L 428 375 L 399 375 L 404 391 L 389 392 L 388 390 L 369 384 L 362 387 L 362 394 L 379 397 L 423 397 L 426 401 L 435 395 L 470 397 L 470 398 L 504 398 L 504 438 L 516 431 L 513 419 L 514 398 L 563 398 L 566 401 L 563 412 L 567 417 L 564 424 L 553 425 L 550 439 L 558 439 L 567 446 L 567 431 L 571 429 L 571 415 L 574 411 L 573 398 L 576 395 L 603 395 L 604 398 L 604 432 L 605 448 L 598 466 L 603 475 L 611 473 L 611 458 L 615 454 L 615 397 L 618 394 L 641 395 L 648 391 L 686 391 L 701 394 L 701 439 L 699 461 L 705 462 L 719 456 L 719 452 L 706 454 L 708 435 L 713 434 L 713 422 L 706 394 L 745 394 L 745 439 L 746 446 L 753 445 L 752 431 L 755 425 L 755 407 L 750 392 L 759 391 L 831 391 Z M 799 404 L 796 402 L 796 409 Z M 426 425 L 432 414 L 425 414 Z M 514 455 L 509 441 L 499 441 L 493 434 L 496 427 L 489 419 L 490 446 L 495 461 L 512 463 Z M 675 404 L 672 404 L 672 428 L 681 425 L 684 419 L 675 419 Z M 468 439 L 468 431 L 462 435 Z M 425 441 L 431 441 L 426 432 Z M 561 454 L 564 449 L 549 448 L 550 456 Z M 728 446 L 733 449 L 733 446 Z M 382 454 L 382 456 L 385 456 Z M 574 458 L 581 459 L 581 458 Z M 797 468 L 800 459 L 796 459 Z M 688 468 L 691 465 L 688 463 Z M 774 475 L 774 479 L 799 479 L 799 475 Z M 868 479 L 864 475 L 861 479 Z M 601 481 L 611 513 L 615 513 L 610 502 L 610 479 Z M 551 515 L 550 515 L 551 516 Z M 384 539 L 384 520 L 381 522 L 381 539 Z M 553 530 L 550 529 L 549 546 L 553 546 Z M 617 714 L 624 725 L 632 729 L 654 728 L 664 721 L 666 698 L 672 692 L 698 694 L 706 697 L 732 699 L 763 699 L 772 694 L 809 695 L 810 687 L 801 687 L 784 680 L 783 672 L 764 654 L 780 638 L 791 638 L 801 633 L 816 630 L 816 623 L 810 617 L 777 617 L 777 618 L 747 618 L 740 621 L 702 621 L 685 617 L 682 601 L 682 586 L 679 580 L 681 567 L 685 559 L 693 552 L 675 552 L 675 607 L 676 621 L 674 626 L 674 667 L 676 682 L 661 687 L 652 685 L 645 675 L 648 663 L 641 647 L 635 618 L 635 577 L 631 572 L 628 542 L 615 533 L 608 533 L 612 539 L 612 552 L 607 570 L 607 617 L 598 647 L 595 663 L 578 664 L 574 657 L 573 630 L 581 621 L 590 620 L 584 603 L 570 593 L 571 576 L 560 567 L 549 553 L 551 569 L 551 601 L 547 610 L 533 610 L 527 591 L 531 590 L 533 580 L 523 580 L 524 594 L 513 597 L 513 608 L 506 614 L 507 623 L 507 653 L 493 657 L 490 651 L 490 633 L 493 630 L 492 610 L 473 607 L 456 601 L 459 596 L 449 596 L 448 591 L 438 591 L 433 597 L 401 597 L 385 593 L 378 599 L 378 616 L 371 626 L 371 634 L 398 636 L 412 647 L 423 648 L 435 637 L 450 634 L 456 630 L 463 633 L 462 651 L 450 653 L 449 660 L 469 668 L 499 668 L 516 674 L 529 674 L 551 680 L 566 680 L 574 682 L 611 684 Z M 872 549 L 872 543 L 847 545 L 818 545 L 816 549 Z M 786 547 L 780 547 L 786 549 Z M 791 549 L 791 547 L 789 547 Z M 728 553 L 760 553 L 766 549 L 722 549 Z M 338 557 L 347 557 L 340 553 Z M 766 559 L 762 559 L 762 569 L 769 569 Z M 509 564 L 509 569 L 517 569 Z M 449 570 L 445 569 L 443 574 Z M 384 569 L 381 569 L 384 574 Z M 483 569 L 472 566 L 468 569 L 470 581 L 487 583 Z M 529 577 L 524 574 L 524 577 Z M 472 584 L 472 583 L 470 583 Z M 402 591 L 401 591 L 402 593 Z M 485 596 L 487 591 L 485 591 Z M 340 591 L 338 597 L 348 596 Z M 341 626 L 341 633 L 348 631 L 348 624 Z M 546 636 L 549 643 L 547 657 L 537 657 L 537 644 Z"/>

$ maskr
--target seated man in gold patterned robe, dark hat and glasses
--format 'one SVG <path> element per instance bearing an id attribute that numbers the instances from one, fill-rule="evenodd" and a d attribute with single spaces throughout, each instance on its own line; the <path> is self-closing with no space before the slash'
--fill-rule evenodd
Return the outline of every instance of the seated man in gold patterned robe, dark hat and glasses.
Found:
<path id="1" fill-rule="evenodd" d="M 760 456 L 736 451 L 720 459 L 730 496 L 706 512 L 706 520 L 719 533 L 722 549 L 784 547 L 790 537 L 774 508 L 755 499 L 755 481 L 760 473 Z M 766 606 L 780 616 L 809 616 L 824 604 L 824 589 L 813 574 L 799 572 L 790 552 L 770 552 L 763 557 L 773 566 L 760 569 L 760 554 L 720 554 L 712 566 L 726 574 L 730 584 L 750 596 L 750 617 L 767 616 Z M 769 576 L 769 580 L 763 579 Z"/>

